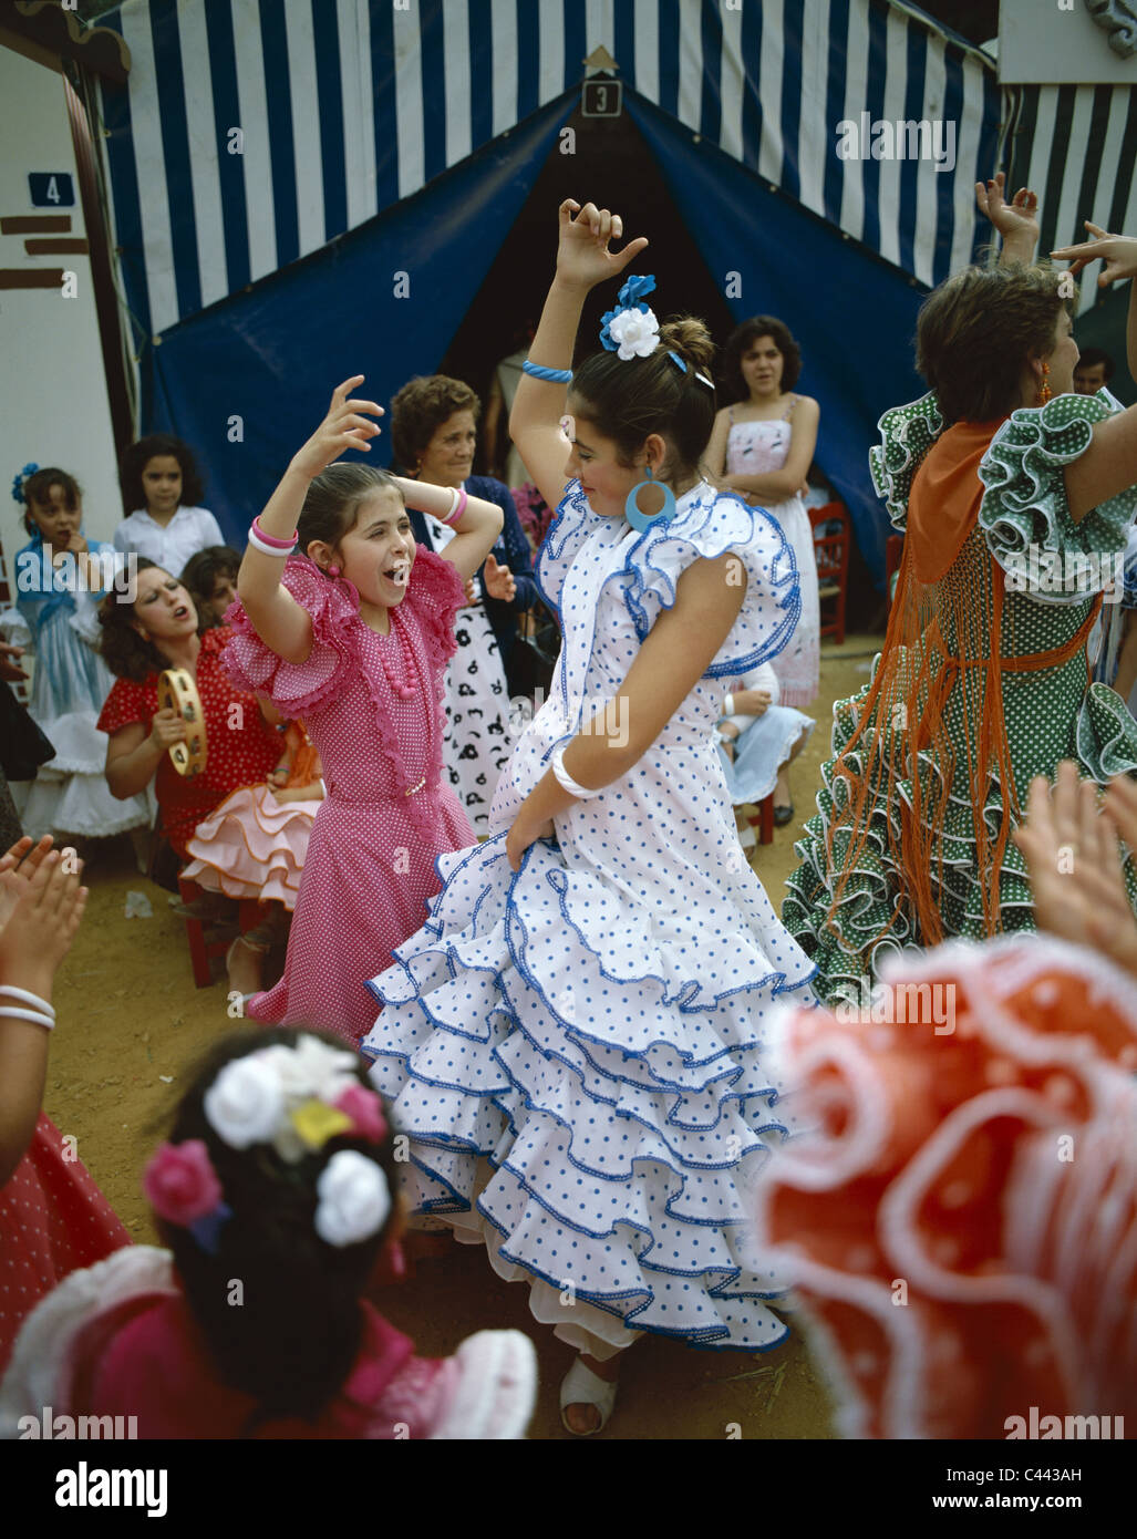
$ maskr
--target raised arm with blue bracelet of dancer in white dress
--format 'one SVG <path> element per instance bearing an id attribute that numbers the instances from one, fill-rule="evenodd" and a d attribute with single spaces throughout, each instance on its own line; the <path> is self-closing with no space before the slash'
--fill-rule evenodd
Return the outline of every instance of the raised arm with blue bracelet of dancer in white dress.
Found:
<path id="1" fill-rule="evenodd" d="M 608 242 L 620 240 L 623 235 L 623 220 L 606 208 L 599 209 L 595 203 L 580 208 L 575 199 L 565 199 L 558 220 L 557 272 L 529 348 L 529 362 L 548 369 L 569 371 L 585 299 L 597 283 L 623 272 L 648 240 L 640 235 L 623 251 L 609 251 Z M 565 382 L 538 380 L 531 374 L 522 374 L 514 409 L 509 412 L 509 436 L 549 508 L 560 503 L 566 485 L 568 456 L 560 429 L 566 397 Z"/>

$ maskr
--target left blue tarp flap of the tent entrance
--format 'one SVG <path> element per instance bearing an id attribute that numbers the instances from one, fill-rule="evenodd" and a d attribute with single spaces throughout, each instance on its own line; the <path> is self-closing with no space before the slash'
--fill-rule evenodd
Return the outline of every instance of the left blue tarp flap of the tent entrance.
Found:
<path id="1" fill-rule="evenodd" d="M 148 351 L 146 431 L 194 446 L 206 503 L 237 549 L 340 380 L 365 374 L 360 394 L 386 405 L 437 368 L 577 100 L 575 91 L 560 97 L 389 212 L 172 326 Z M 403 288 L 408 297 L 397 297 Z M 385 434 L 366 459 L 386 465 L 389 456 Z"/>

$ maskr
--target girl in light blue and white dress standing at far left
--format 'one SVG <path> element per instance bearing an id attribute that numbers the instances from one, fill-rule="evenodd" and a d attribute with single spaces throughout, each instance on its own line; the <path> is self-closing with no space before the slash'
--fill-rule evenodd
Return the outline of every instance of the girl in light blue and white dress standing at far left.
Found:
<path id="1" fill-rule="evenodd" d="M 152 822 L 145 796 L 118 802 L 103 774 L 106 742 L 98 713 L 114 680 L 98 656 L 97 608 L 122 577 L 126 559 L 83 534 L 82 491 L 66 471 L 26 465 L 12 496 L 25 508 L 31 539 L 15 554 L 15 606 L 9 640 L 35 651 L 31 716 L 55 757 L 17 788 L 23 831 L 105 839 Z"/>

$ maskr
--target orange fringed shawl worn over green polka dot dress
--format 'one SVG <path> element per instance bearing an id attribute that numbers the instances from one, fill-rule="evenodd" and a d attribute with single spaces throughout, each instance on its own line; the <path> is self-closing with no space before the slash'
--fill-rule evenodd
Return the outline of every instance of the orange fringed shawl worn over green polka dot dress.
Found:
<path id="1" fill-rule="evenodd" d="M 985 931 L 991 936 L 1002 928 L 999 873 L 1011 828 L 1022 816 L 1003 722 L 1002 676 L 1066 662 L 1085 646 L 1102 605 L 1099 596 L 1082 628 L 1046 653 L 1015 656 L 1014 636 L 1003 636 L 1003 573 L 977 526 L 983 499 L 979 466 L 1000 426 L 1002 420 L 955 423 L 937 439 L 915 474 L 880 665 L 855 731 L 834 763 L 834 777 L 845 777 L 849 794 L 826 840 L 831 870 L 840 866 L 826 919 L 834 926 L 846 883 L 865 854 L 871 814 L 883 806 L 903 888 L 877 940 L 894 928 L 905 899 L 920 942 L 931 946 L 945 939 L 937 891 L 943 890 L 945 817 L 962 757 L 971 788 Z M 994 780 L 1002 788 L 1002 814 L 992 837 L 982 810 Z M 840 860 L 834 848 L 839 836 Z"/>

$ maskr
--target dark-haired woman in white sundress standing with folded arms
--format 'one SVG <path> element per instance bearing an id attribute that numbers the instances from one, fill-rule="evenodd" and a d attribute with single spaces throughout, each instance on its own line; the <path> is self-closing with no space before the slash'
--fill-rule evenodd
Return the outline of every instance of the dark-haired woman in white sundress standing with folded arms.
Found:
<path id="1" fill-rule="evenodd" d="M 794 548 L 802 588 L 802 620 L 789 646 L 774 659 L 782 705 L 803 711 L 817 697 L 822 611 L 809 514 L 800 492 L 817 446 L 820 409 L 812 396 L 795 396 L 802 352 L 774 315 L 754 315 L 726 342 L 723 382 L 728 400 L 714 422 L 706 466 L 719 485 L 751 506 L 771 512 Z M 794 816 L 786 768 L 774 790 L 774 820 Z"/>

